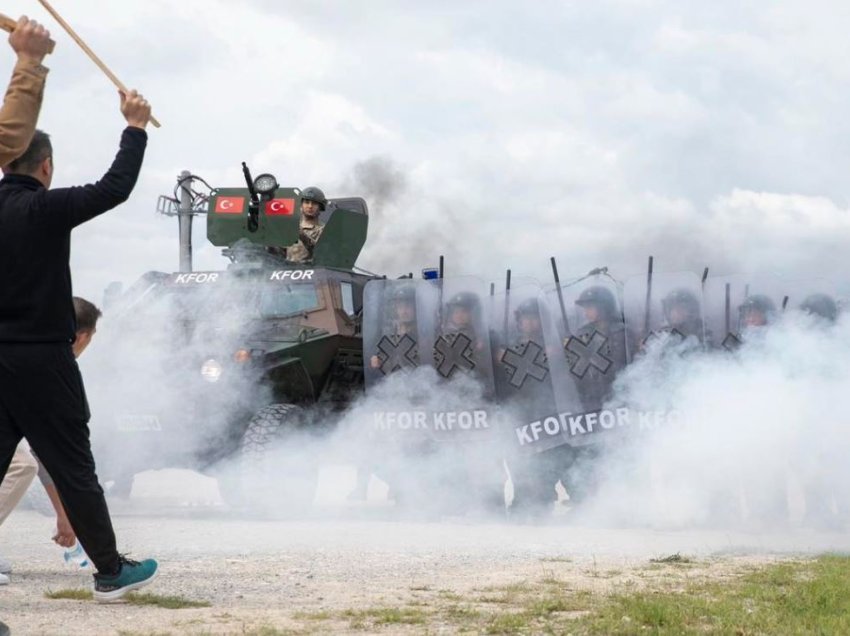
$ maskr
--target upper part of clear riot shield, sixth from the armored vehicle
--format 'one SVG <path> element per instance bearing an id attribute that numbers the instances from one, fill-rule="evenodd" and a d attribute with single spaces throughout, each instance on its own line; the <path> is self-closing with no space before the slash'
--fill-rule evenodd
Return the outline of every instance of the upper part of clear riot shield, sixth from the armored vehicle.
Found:
<path id="1" fill-rule="evenodd" d="M 734 351 L 789 307 L 790 285 L 768 274 L 733 274 L 705 282 L 705 320 L 712 348 Z M 798 299 L 802 303 L 804 299 Z M 790 305 L 793 306 L 793 305 Z"/>

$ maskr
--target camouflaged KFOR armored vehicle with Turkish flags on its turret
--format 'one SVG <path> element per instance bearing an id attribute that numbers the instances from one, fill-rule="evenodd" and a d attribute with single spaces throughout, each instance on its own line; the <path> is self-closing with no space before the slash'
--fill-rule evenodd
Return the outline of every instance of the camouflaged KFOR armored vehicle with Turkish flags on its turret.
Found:
<path id="1" fill-rule="evenodd" d="M 110 294 L 84 362 L 113 493 L 128 493 L 142 470 L 182 467 L 218 477 L 235 506 L 309 503 L 318 465 L 309 441 L 362 390 L 363 288 L 374 276 L 354 263 L 366 202 L 323 205 L 312 258 L 294 263 L 285 247 L 299 240 L 303 193 L 271 175 L 248 186 L 213 189 L 190 211 L 206 212 L 226 269 L 148 272 Z"/>

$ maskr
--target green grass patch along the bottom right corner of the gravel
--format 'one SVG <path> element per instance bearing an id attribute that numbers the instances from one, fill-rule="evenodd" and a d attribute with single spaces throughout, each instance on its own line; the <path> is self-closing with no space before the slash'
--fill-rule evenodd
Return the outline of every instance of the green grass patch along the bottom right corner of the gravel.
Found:
<path id="1" fill-rule="evenodd" d="M 666 571 L 640 590 L 615 583 L 603 594 L 563 581 L 525 581 L 465 596 L 440 590 L 426 606 L 328 618 L 369 631 L 416 625 L 487 634 L 850 634 L 850 557 L 778 563 L 722 579 Z"/>

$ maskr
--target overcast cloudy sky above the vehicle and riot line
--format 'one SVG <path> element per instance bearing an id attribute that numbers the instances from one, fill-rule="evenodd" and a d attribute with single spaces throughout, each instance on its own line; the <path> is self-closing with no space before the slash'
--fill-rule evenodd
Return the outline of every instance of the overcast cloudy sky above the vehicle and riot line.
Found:
<path id="1" fill-rule="evenodd" d="M 54 0 L 162 121 L 120 209 L 75 231 L 75 291 L 175 270 L 159 194 L 190 169 L 361 195 L 360 264 L 501 279 L 611 266 L 847 279 L 850 4 Z M 105 77 L 34 0 L 3 12 L 58 42 L 41 127 L 56 185 L 109 166 Z M 0 55 L 8 76 L 11 51 Z M 222 268 L 195 233 L 196 267 Z"/>

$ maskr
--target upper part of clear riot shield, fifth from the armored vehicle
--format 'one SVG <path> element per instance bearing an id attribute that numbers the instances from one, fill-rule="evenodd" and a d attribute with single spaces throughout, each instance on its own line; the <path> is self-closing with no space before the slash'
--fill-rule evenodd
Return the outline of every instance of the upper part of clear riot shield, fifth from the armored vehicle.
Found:
<path id="1" fill-rule="evenodd" d="M 631 362 L 650 345 L 700 349 L 706 337 L 702 284 L 693 272 L 636 276 L 623 289 L 626 351 Z"/>

